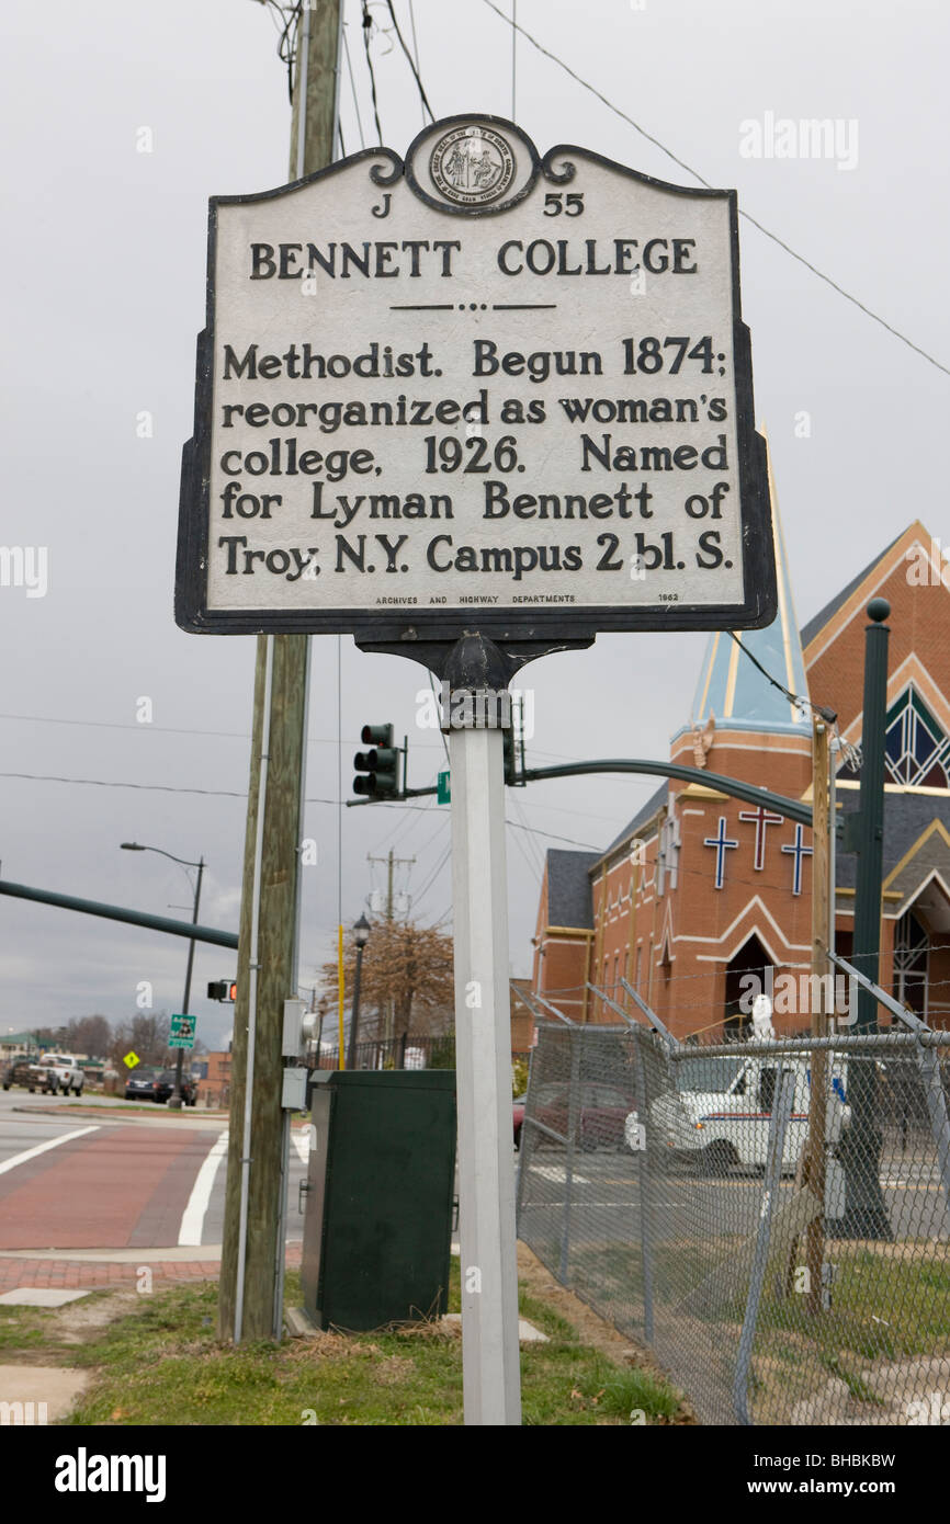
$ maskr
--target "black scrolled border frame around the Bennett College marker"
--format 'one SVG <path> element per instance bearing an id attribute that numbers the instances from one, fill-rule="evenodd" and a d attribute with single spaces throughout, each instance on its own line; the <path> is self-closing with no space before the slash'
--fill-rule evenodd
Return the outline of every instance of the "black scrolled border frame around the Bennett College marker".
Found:
<path id="1" fill-rule="evenodd" d="M 503 201 L 450 206 L 433 200 L 413 172 L 413 158 L 419 145 L 433 133 L 450 130 L 461 122 L 485 122 L 489 126 L 515 134 L 529 149 L 531 174 L 518 190 Z M 550 608 L 522 605 L 517 608 L 413 608 L 380 611 L 369 608 L 287 608 L 287 610 L 209 610 L 207 564 L 209 564 L 209 485 L 213 407 L 213 347 L 215 347 L 215 256 L 218 235 L 218 207 L 239 206 L 255 201 L 273 201 L 290 190 L 331 180 L 334 175 L 367 163 L 369 178 L 383 192 L 406 177 L 413 194 L 428 206 L 450 216 L 497 216 L 511 210 L 535 186 L 538 177 L 563 186 L 573 180 L 576 160 L 602 165 L 616 174 L 654 186 L 689 200 L 718 198 L 729 203 L 729 235 L 732 258 L 732 344 L 735 364 L 735 431 L 738 445 L 740 515 L 744 604 L 663 604 L 650 607 L 627 605 L 554 605 Z M 416 134 L 406 158 L 390 148 L 366 148 L 358 154 L 319 169 L 316 174 L 261 190 L 252 195 L 221 195 L 209 201 L 207 219 L 207 311 L 206 326 L 198 335 L 195 367 L 195 418 L 194 434 L 181 451 L 181 489 L 178 500 L 178 546 L 175 575 L 175 622 L 191 634 L 252 636 L 252 634 L 352 634 L 364 649 L 400 651 L 416 660 L 427 660 L 422 649 L 450 646 L 477 629 L 502 646 L 515 645 L 540 654 L 541 649 L 590 645 L 599 632 L 619 634 L 637 629 L 758 629 L 772 623 L 778 608 L 775 550 L 772 530 L 772 506 L 765 440 L 755 430 L 755 404 L 752 387 L 752 341 L 749 328 L 741 317 L 740 293 L 740 241 L 738 197 L 735 190 L 692 189 L 669 184 L 653 175 L 621 165 L 592 149 L 570 143 L 550 148 L 543 157 L 520 126 L 505 117 L 485 111 L 459 113 L 430 123 Z"/>

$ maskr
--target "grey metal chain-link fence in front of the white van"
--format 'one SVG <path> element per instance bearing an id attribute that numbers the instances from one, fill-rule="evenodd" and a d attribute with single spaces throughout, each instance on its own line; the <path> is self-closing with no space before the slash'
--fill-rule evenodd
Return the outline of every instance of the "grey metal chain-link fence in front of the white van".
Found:
<path id="1" fill-rule="evenodd" d="M 706 1423 L 950 1423 L 950 1033 L 538 1024 L 518 1236 Z"/>

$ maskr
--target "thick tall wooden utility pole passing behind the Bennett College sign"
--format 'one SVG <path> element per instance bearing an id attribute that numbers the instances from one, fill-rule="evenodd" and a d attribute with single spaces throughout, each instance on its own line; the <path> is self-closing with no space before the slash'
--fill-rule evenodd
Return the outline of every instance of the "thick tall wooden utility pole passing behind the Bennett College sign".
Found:
<path id="1" fill-rule="evenodd" d="M 339 43 L 340 0 L 305 6 L 297 26 L 290 180 L 332 160 Z M 220 1335 L 236 1343 L 279 1332 L 281 1038 L 284 1001 L 297 994 L 308 649 L 308 636 L 258 636 L 218 1291 Z"/>

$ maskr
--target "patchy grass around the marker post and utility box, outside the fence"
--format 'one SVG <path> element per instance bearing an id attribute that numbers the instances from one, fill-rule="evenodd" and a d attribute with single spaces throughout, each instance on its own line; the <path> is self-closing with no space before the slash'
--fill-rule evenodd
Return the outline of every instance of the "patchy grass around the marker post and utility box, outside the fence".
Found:
<path id="1" fill-rule="evenodd" d="M 457 1263 L 453 1262 L 457 1309 Z M 299 1276 L 287 1305 L 300 1303 Z M 11 1317 L 15 1314 L 15 1317 Z M 522 1315 L 549 1335 L 522 1349 L 525 1423 L 669 1422 L 680 1398 L 660 1378 L 621 1366 L 522 1285 Z M 217 1340 L 217 1288 L 181 1286 L 142 1297 L 81 1344 L 55 1335 L 56 1314 L 0 1309 L 0 1350 L 34 1362 L 95 1369 L 72 1425 L 428 1425 L 462 1423 L 457 1324 L 422 1323 L 383 1334 L 322 1334 L 235 1350 Z"/>

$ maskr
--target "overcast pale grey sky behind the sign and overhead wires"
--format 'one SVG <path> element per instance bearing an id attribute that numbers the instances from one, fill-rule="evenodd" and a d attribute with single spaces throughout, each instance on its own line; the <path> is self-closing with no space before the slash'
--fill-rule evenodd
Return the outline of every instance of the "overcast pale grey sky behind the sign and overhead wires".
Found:
<path id="1" fill-rule="evenodd" d="M 509 0 L 500 8 L 511 9 Z M 409 30 L 409 3 L 396 0 Z M 380 27 L 386 8 L 372 6 Z M 518 0 L 520 24 L 740 207 L 944 364 L 950 8 L 932 0 Z M 360 6 L 346 5 L 363 133 L 374 142 Z M 512 114 L 511 29 L 485 0 L 415 0 L 436 116 Z M 49 0 L 3 15 L 3 530 L 49 547 L 49 591 L 0 588 L 0 858 L 27 884 L 181 914 L 185 875 L 128 838 L 209 864 L 201 919 L 235 928 L 252 709 L 250 637 L 198 639 L 172 619 L 178 460 L 191 433 L 204 319 L 207 197 L 285 180 L 290 113 L 271 20 L 253 0 Z M 422 125 L 392 38 L 374 37 L 380 116 L 403 151 Z M 741 123 L 840 119 L 834 158 L 746 157 Z M 544 151 L 573 142 L 663 180 L 694 181 L 528 41 L 515 116 Z M 857 123 L 857 139 L 848 123 Z M 137 152 L 149 128 L 152 152 Z M 843 128 L 843 130 L 845 130 Z M 346 149 L 360 146 L 349 87 Z M 749 133 L 746 130 L 746 140 Z M 769 430 L 799 620 L 921 517 L 947 539 L 941 454 L 950 376 L 913 354 L 749 224 L 743 306 L 759 425 Z M 149 411 L 154 436 L 137 437 Z M 810 437 L 796 437 L 796 415 Z M 601 637 L 525 672 L 538 764 L 665 756 L 689 719 L 704 636 Z M 335 637 L 314 642 L 302 983 L 337 920 Z M 413 727 L 424 671 L 342 642 L 343 796 L 358 725 L 410 733 L 412 782 L 441 757 Z M 816 695 L 820 696 L 820 695 Z M 152 722 L 137 706 L 151 700 Z M 41 782 L 9 774 L 55 774 Z M 137 788 L 117 785 L 139 785 Z M 159 785 L 166 792 L 159 791 Z M 512 796 L 512 972 L 531 966 L 547 846 L 605 844 L 651 783 L 598 779 Z M 343 814 L 342 905 L 395 844 L 415 913 L 450 913 L 448 811 Z M 168 908 L 168 907 L 174 908 Z M 0 901 L 0 1030 L 134 1012 L 136 986 L 177 1010 L 186 943 L 21 901 Z M 194 1009 L 215 1045 L 227 1009 L 204 1001 L 232 954 L 198 948 Z"/>

